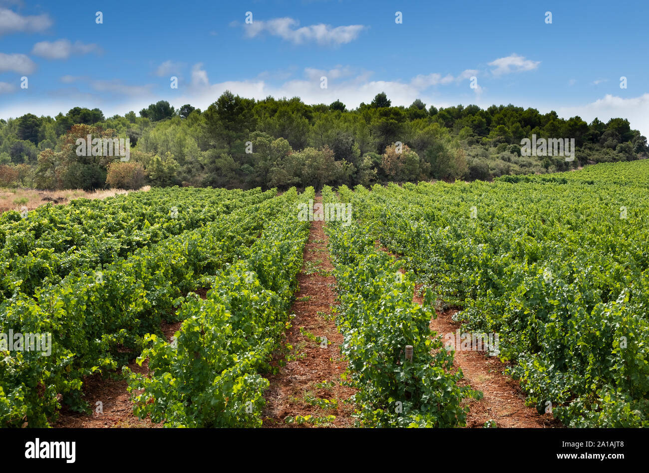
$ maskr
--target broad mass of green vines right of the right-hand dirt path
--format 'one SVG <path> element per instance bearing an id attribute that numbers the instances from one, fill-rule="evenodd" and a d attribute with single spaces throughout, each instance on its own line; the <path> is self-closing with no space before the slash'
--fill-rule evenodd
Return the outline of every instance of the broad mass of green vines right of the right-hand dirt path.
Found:
<path id="1" fill-rule="evenodd" d="M 468 331 L 499 334 L 539 412 L 551 403 L 567 426 L 647 427 L 648 188 L 643 160 L 339 192 L 368 245 L 402 255 L 462 308 Z"/>

